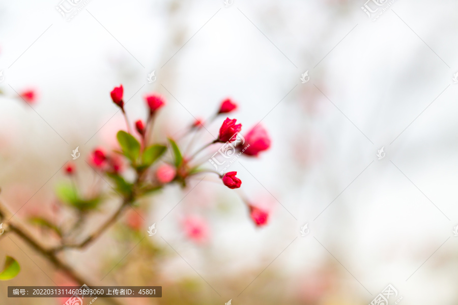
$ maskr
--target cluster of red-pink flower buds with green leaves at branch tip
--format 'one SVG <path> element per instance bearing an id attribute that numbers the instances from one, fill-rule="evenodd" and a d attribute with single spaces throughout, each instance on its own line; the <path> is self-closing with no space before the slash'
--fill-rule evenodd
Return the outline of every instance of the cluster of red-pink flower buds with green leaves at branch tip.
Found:
<path id="1" fill-rule="evenodd" d="M 208 120 L 196 119 L 189 126 L 185 135 L 178 139 L 168 138 L 168 143 L 153 143 L 152 129 L 154 127 L 155 118 L 160 109 L 166 105 L 165 99 L 158 94 L 149 94 L 144 97 L 146 107 L 148 109 L 145 119 L 135 120 L 132 128 L 129 125 L 129 119 L 125 111 L 124 103 L 124 88 L 122 85 L 113 88 L 110 93 L 112 102 L 120 108 L 127 124 L 127 132 L 119 131 L 117 139 L 120 149 L 115 149 L 109 153 L 102 147 L 95 148 L 90 157 L 90 165 L 96 169 L 100 175 L 106 175 L 112 180 L 115 185 L 115 190 L 118 194 L 125 198 L 126 202 L 133 202 L 139 197 L 151 192 L 160 190 L 169 184 L 179 184 L 185 187 L 190 178 L 203 173 L 216 173 L 222 184 L 230 189 L 239 189 L 242 185 L 242 180 L 237 176 L 236 171 L 226 173 L 218 173 L 206 168 L 206 162 L 199 162 L 197 156 L 203 152 L 205 148 L 216 144 L 233 145 L 234 149 L 239 153 L 243 153 L 246 157 L 257 157 L 262 151 L 270 148 L 271 140 L 267 131 L 261 126 L 256 125 L 244 135 L 244 145 L 237 142 L 237 136 L 242 131 L 242 124 L 237 123 L 237 119 L 226 117 L 222 122 L 218 137 L 198 149 L 194 154 L 184 152 L 179 145 L 179 142 L 184 138 L 201 132 L 202 129 L 216 120 L 220 115 L 228 115 L 238 109 L 237 104 L 231 99 L 225 99 L 220 104 L 219 109 Z M 134 130 L 135 132 L 132 132 Z M 192 141 L 197 137 L 194 136 Z M 170 150 L 171 154 L 165 154 L 166 150 Z M 166 156 L 171 156 L 167 159 Z M 207 158 L 208 159 L 208 158 Z M 125 172 L 129 170 L 135 173 L 134 179 L 127 179 Z M 73 176 L 76 173 L 75 166 L 68 164 L 65 168 L 67 175 Z M 84 198 L 81 195 L 73 194 L 78 198 L 78 203 L 88 206 L 89 201 L 94 201 L 99 198 Z M 72 200 L 72 198 L 67 198 Z M 254 207 L 250 202 L 247 203 L 247 208 L 253 223 L 256 226 L 267 224 L 268 211 Z M 92 206 L 97 206 L 91 205 Z M 135 223 L 135 217 L 128 218 L 128 225 L 131 228 L 138 228 Z M 184 222 L 185 231 L 188 236 L 194 239 L 204 240 L 207 233 L 201 226 L 197 226 L 198 222 Z"/>

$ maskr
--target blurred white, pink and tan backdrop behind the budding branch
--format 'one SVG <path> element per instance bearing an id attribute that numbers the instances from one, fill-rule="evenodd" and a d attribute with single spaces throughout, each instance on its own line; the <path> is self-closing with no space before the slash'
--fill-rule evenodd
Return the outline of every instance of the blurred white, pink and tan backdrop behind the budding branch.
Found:
<path id="1" fill-rule="evenodd" d="M 84 188 L 103 185 L 85 160 L 126 128 L 114 86 L 124 85 L 131 121 L 146 118 L 145 94 L 164 96 L 159 142 L 230 97 L 242 132 L 261 121 L 272 138 L 259 158 L 231 165 L 242 188 L 205 176 L 142 199 L 140 218 L 130 211 L 88 249 L 63 254 L 81 275 L 162 286 L 162 298 L 124 304 L 369 304 L 391 284 L 389 304 L 456 305 L 457 9 L 445 0 L 2 2 L 0 198 L 25 223 L 64 225 L 55 188 L 72 150 Z M 27 104 L 17 94 L 29 89 L 37 96 Z M 269 207 L 266 226 L 252 223 L 241 196 Z M 189 219 L 202 227 L 197 239 Z M 14 234 L 0 236 L 0 267 L 6 255 L 21 272 L 0 282 L 0 304 L 65 302 L 8 298 L 8 286 L 72 283 Z"/>

